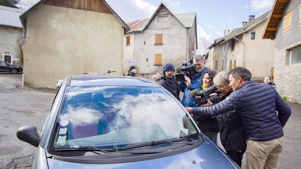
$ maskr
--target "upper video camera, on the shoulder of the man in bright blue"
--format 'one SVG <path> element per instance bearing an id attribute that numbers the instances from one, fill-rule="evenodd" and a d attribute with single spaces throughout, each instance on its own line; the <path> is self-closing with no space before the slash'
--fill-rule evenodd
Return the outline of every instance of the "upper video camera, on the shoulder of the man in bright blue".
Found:
<path id="1" fill-rule="evenodd" d="M 192 75 L 195 72 L 195 64 L 193 63 L 193 57 L 191 57 L 187 62 L 182 63 L 181 66 L 178 66 L 175 68 L 175 72 L 179 73 L 175 75 L 175 79 L 178 82 L 185 82 L 184 76 L 188 76 L 189 78 L 192 77 Z"/>

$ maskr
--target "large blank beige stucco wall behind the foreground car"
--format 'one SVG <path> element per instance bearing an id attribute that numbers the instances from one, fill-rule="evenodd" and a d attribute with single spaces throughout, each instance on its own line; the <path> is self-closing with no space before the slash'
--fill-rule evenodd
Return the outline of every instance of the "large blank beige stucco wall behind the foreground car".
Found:
<path id="1" fill-rule="evenodd" d="M 123 32 L 113 14 L 40 5 L 27 15 L 24 81 L 55 88 L 67 75 L 97 72 L 97 64 L 100 73 L 122 75 Z"/>

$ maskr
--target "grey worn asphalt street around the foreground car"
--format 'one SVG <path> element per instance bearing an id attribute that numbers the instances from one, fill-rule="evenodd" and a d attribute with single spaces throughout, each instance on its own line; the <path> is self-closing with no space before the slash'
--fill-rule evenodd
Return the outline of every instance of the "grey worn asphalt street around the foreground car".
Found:
<path id="1" fill-rule="evenodd" d="M 36 148 L 18 140 L 16 131 L 24 125 L 33 125 L 39 133 L 56 94 L 56 90 L 22 88 L 21 81 L 22 74 L 0 73 L 0 168 L 31 167 Z M 292 115 L 284 127 L 284 149 L 279 168 L 299 169 L 301 105 L 288 104 L 292 108 Z M 218 145 L 222 147 L 220 142 Z M 245 168 L 245 160 L 242 168 Z"/>

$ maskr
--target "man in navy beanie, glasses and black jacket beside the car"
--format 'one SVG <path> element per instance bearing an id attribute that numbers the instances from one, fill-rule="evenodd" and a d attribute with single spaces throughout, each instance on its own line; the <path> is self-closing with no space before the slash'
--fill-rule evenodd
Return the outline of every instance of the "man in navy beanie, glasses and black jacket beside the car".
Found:
<path id="1" fill-rule="evenodd" d="M 179 84 L 174 76 L 175 67 L 171 63 L 165 64 L 163 73 L 160 75 L 161 80 L 158 82 L 159 85 L 168 90 L 172 95 L 180 101 L 180 88 Z"/>

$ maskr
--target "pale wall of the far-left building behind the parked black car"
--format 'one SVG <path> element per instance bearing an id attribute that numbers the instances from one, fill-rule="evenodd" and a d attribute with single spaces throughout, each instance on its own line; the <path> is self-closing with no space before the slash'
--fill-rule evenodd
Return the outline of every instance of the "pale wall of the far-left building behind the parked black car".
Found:
<path id="1" fill-rule="evenodd" d="M 9 54 L 13 55 L 13 59 L 18 59 L 16 56 L 16 41 L 19 37 L 23 37 L 22 28 L 0 25 L 0 60 L 2 59 L 2 54 L 5 54 L 4 52 L 9 52 Z M 15 63 L 13 62 L 13 64 Z"/>

